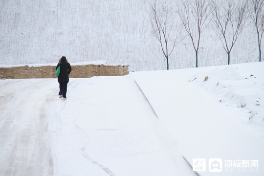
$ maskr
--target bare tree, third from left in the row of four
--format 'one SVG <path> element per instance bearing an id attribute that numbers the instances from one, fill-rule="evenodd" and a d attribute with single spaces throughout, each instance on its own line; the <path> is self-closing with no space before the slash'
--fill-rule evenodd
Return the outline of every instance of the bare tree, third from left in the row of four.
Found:
<path id="1" fill-rule="evenodd" d="M 218 35 L 223 48 L 228 55 L 230 64 L 230 53 L 239 38 L 246 21 L 246 0 L 228 3 L 213 3 L 215 32 Z"/>

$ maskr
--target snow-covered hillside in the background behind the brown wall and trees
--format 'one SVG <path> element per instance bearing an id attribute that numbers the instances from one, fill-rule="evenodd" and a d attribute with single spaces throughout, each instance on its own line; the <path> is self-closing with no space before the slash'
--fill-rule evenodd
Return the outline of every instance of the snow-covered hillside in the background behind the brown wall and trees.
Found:
<path id="1" fill-rule="evenodd" d="M 166 69 L 160 44 L 151 33 L 149 2 L 1 0 L 0 64 L 49 64 L 66 56 L 71 63 L 129 64 L 130 71 Z M 179 3 L 171 3 L 174 10 Z M 227 64 L 227 54 L 212 27 L 213 22 L 201 35 L 198 66 Z M 255 31 L 249 18 L 231 52 L 231 64 L 258 61 Z M 170 69 L 195 66 L 188 37 L 176 46 L 169 64 Z"/>

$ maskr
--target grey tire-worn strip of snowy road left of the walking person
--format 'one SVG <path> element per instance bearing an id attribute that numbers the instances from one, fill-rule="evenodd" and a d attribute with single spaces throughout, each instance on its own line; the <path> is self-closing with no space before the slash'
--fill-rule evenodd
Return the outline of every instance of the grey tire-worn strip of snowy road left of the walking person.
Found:
<path id="1" fill-rule="evenodd" d="M 44 103 L 41 103 L 43 100 L 36 99 L 47 98 L 50 89 L 46 86 L 49 85 L 46 81 L 53 80 L 16 80 L 10 85 L 11 88 L 6 85 L 5 89 L 11 90 L 13 95 L 12 100 L 10 97 L 4 100 L 7 102 L 4 112 L 6 119 L 11 117 L 12 120 L 6 121 L 0 129 L 0 135 L 5 137 L 0 145 L 2 157 L 0 163 L 5 163 L 1 164 L 3 166 L 0 170 L 1 176 L 29 176 L 40 173 L 53 175 L 52 168 L 50 169 L 52 159 L 49 141 L 45 131 L 48 105 L 44 106 Z M 10 108 L 10 104 L 13 104 L 14 108 Z M 6 150 L 2 150 L 4 148 Z"/>

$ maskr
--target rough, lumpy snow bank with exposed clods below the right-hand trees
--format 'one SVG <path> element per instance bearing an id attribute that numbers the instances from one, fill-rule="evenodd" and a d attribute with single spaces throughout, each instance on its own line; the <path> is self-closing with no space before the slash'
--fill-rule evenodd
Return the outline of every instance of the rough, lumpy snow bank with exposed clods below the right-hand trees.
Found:
<path id="1" fill-rule="evenodd" d="M 260 124 L 264 120 L 264 62 L 190 69 L 185 80 L 215 104 L 242 111 L 243 123 Z M 179 73 L 181 71 L 179 70 Z M 208 80 L 204 78 L 208 76 Z M 263 134 L 264 137 L 264 134 Z"/>

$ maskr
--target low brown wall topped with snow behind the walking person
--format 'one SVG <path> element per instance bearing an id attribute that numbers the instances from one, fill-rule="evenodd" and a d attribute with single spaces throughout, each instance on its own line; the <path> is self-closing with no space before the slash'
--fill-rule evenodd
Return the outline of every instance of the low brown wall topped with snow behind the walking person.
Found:
<path id="1" fill-rule="evenodd" d="M 0 67 L 0 79 L 56 78 L 56 66 Z M 129 74 L 128 65 L 81 65 L 71 66 L 70 78 L 93 76 L 123 76 Z"/>

